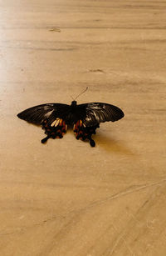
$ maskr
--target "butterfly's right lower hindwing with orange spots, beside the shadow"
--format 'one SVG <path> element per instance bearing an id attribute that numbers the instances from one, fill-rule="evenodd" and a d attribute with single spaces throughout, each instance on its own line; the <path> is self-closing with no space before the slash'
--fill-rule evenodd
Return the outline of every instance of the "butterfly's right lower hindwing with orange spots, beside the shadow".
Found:
<path id="1" fill-rule="evenodd" d="M 91 147 L 95 147 L 95 141 L 91 138 L 92 134 L 95 134 L 95 129 L 99 128 L 99 125 L 85 127 L 81 120 L 78 120 L 74 125 L 74 133 L 76 133 L 76 139 L 83 141 L 89 141 Z"/>

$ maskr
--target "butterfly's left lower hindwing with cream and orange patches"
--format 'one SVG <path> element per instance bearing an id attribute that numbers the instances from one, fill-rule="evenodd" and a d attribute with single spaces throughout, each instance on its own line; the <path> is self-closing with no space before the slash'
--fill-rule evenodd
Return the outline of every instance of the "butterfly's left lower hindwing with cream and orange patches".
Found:
<path id="1" fill-rule="evenodd" d="M 56 118 L 51 124 L 48 123 L 48 119 L 45 119 L 42 123 L 42 128 L 45 129 L 47 136 L 41 139 L 41 143 L 46 143 L 48 138 L 63 138 L 66 133 L 66 123 L 61 118 Z"/>

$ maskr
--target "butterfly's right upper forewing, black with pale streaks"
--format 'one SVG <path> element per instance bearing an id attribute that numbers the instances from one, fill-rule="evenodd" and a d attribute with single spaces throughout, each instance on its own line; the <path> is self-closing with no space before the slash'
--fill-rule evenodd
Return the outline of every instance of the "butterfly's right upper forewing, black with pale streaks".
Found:
<path id="1" fill-rule="evenodd" d="M 123 111 L 107 103 L 85 103 L 77 106 L 77 113 L 81 113 L 81 120 L 85 126 L 95 126 L 104 122 L 115 122 L 125 116 Z"/>

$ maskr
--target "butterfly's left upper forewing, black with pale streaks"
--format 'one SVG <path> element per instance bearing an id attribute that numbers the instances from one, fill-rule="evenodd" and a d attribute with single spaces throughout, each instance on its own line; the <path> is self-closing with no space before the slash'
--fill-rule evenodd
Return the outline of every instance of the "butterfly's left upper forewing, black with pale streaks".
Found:
<path id="1" fill-rule="evenodd" d="M 41 104 L 32 108 L 27 108 L 17 114 L 18 118 L 29 123 L 41 124 L 45 119 L 52 123 L 56 118 L 65 118 L 69 105 L 61 103 Z"/>

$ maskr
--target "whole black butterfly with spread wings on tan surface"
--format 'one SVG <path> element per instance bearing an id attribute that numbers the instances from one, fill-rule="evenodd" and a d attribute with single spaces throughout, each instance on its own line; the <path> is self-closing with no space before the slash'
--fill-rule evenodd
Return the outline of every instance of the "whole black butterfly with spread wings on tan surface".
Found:
<path id="1" fill-rule="evenodd" d="M 100 123 L 118 121 L 124 117 L 124 113 L 120 108 L 108 103 L 77 105 L 76 98 L 71 105 L 46 103 L 27 108 L 18 113 L 17 117 L 29 123 L 41 125 L 46 133 L 46 138 L 41 139 L 41 143 L 46 143 L 48 138 L 63 138 L 69 125 L 73 127 L 76 139 L 89 141 L 90 146 L 95 147 L 95 141 L 91 136 L 95 134 L 96 128 L 100 127 Z"/>

